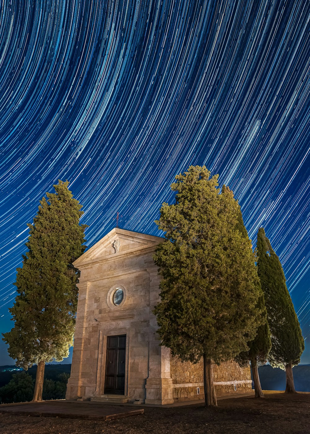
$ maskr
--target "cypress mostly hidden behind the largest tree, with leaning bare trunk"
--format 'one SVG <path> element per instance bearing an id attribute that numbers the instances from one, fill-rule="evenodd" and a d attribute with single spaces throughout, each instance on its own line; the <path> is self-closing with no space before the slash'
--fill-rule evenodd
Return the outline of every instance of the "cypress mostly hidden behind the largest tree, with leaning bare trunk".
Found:
<path id="1" fill-rule="evenodd" d="M 222 194 L 228 194 L 229 188 L 223 185 Z M 246 242 L 250 242 L 247 234 L 246 227 L 244 226 L 241 209 L 237 215 L 237 229 L 240 231 L 242 237 Z M 257 267 L 256 267 L 257 273 Z M 245 366 L 248 362 L 251 362 L 252 376 L 254 381 L 255 398 L 264 398 L 263 391 L 261 389 L 261 382 L 258 375 L 258 366 L 264 365 L 267 362 L 267 356 L 271 348 L 270 331 L 267 322 L 267 311 L 264 301 L 264 293 L 261 289 L 261 283 L 259 279 L 255 279 L 257 285 L 257 291 L 259 292 L 259 298 L 257 300 L 257 309 L 261 311 L 261 325 L 258 326 L 256 336 L 254 339 L 247 342 L 248 350 L 241 352 L 235 358 L 241 366 Z"/>

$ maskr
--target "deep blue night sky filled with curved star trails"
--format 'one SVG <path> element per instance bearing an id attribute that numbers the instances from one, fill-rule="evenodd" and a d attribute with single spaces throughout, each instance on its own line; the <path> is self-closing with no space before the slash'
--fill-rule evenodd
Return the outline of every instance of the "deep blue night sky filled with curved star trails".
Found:
<path id="1" fill-rule="evenodd" d="M 310 3 L 4 0 L 0 14 L 0 331 L 28 228 L 58 179 L 91 247 L 161 235 L 175 174 L 218 173 L 280 257 L 310 335 Z M 0 345 L 0 365 L 12 364 Z M 302 356 L 310 363 L 310 348 Z"/>

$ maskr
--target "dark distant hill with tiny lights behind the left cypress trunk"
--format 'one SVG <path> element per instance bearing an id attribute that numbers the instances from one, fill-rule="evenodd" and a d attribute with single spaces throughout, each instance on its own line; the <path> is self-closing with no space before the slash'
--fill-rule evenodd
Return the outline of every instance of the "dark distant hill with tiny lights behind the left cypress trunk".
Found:
<path id="1" fill-rule="evenodd" d="M 23 371 L 23 369 L 16 368 L 15 365 L 3 365 L 0 366 L 0 387 L 6 385 L 13 374 L 16 372 Z M 32 366 L 27 371 L 33 378 L 36 378 L 36 366 Z M 70 374 L 71 372 L 71 364 L 57 364 L 57 365 L 45 365 L 44 378 L 48 378 L 49 380 L 56 381 L 58 379 L 58 375 L 62 372 L 66 372 Z"/>

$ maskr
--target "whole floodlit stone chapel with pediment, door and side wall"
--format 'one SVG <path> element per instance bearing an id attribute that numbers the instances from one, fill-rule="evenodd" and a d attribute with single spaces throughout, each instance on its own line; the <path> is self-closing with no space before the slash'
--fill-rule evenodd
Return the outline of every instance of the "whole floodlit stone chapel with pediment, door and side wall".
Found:
<path id="1" fill-rule="evenodd" d="M 66 399 L 171 404 L 203 399 L 203 364 L 181 362 L 159 345 L 158 267 L 163 238 L 115 228 L 79 257 L 71 376 Z M 250 368 L 214 365 L 217 395 L 251 391 Z"/>

